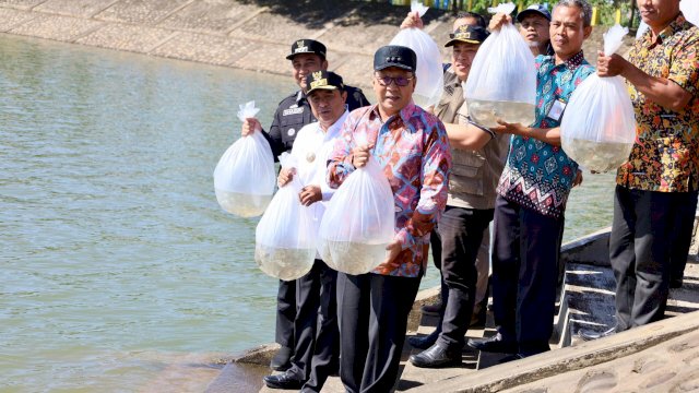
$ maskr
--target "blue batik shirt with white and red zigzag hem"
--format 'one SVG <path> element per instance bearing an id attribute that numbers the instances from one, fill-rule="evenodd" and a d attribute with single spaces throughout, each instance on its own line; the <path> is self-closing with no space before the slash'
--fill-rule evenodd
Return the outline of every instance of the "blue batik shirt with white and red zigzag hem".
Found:
<path id="1" fill-rule="evenodd" d="M 553 56 L 536 57 L 536 118 L 532 127 L 555 128 L 548 117 L 556 100 L 568 103 L 573 90 L 595 70 L 580 51 L 556 66 Z M 578 171 L 578 163 L 560 148 L 534 138 L 512 135 L 498 193 L 522 207 L 560 217 Z"/>

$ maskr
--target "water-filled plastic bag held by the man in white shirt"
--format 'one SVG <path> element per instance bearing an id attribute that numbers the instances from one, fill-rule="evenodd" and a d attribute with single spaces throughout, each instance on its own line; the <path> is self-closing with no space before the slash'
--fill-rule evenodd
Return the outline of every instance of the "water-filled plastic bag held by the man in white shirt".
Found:
<path id="1" fill-rule="evenodd" d="M 288 153 L 280 156 L 280 163 L 282 168 L 297 167 Z M 313 267 L 316 225 L 298 199 L 301 188 L 295 175 L 276 192 L 254 231 L 254 261 L 272 277 L 296 279 Z"/>

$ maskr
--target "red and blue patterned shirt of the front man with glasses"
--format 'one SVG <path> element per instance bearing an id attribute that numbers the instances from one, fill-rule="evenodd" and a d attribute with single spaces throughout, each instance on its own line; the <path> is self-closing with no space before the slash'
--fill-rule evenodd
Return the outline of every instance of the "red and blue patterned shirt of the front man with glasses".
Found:
<path id="1" fill-rule="evenodd" d="M 362 142 L 358 142 L 362 141 Z M 377 106 L 350 114 L 328 164 L 328 184 L 337 188 L 355 170 L 352 150 L 374 145 L 391 184 L 395 205 L 395 240 L 402 251 L 372 273 L 417 277 L 427 266 L 429 233 L 445 211 L 451 154 L 447 131 L 437 117 L 408 104 L 386 122 Z"/>

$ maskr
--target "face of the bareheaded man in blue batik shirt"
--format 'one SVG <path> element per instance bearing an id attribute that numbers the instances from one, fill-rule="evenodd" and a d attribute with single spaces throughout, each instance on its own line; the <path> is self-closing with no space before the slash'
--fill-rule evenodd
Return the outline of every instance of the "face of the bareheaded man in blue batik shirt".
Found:
<path id="1" fill-rule="evenodd" d="M 558 5 L 552 14 L 550 45 L 556 52 L 556 62 L 576 56 L 582 49 L 582 41 L 590 36 L 592 27 L 584 26 L 582 10 L 578 7 Z"/>

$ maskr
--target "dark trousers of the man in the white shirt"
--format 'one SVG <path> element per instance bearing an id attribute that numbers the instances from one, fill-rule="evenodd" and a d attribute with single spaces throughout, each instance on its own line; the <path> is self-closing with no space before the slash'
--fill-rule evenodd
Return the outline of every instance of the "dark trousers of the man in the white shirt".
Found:
<path id="1" fill-rule="evenodd" d="M 296 344 L 288 372 L 307 381 L 306 392 L 320 392 L 328 376 L 339 367 L 336 282 L 337 272 L 321 260 L 296 279 Z"/>

